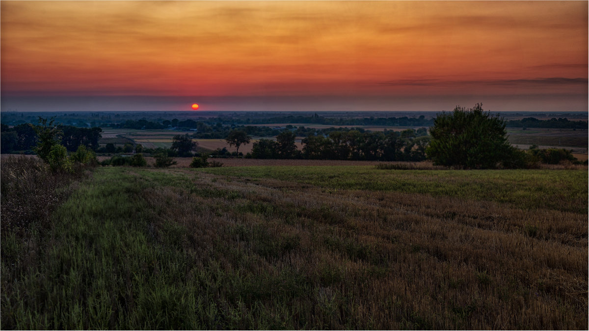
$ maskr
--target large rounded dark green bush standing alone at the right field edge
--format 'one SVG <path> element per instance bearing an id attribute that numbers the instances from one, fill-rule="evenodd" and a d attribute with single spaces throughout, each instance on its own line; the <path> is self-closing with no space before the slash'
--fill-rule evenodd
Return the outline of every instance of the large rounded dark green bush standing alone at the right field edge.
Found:
<path id="1" fill-rule="evenodd" d="M 483 111 L 482 104 L 442 112 L 429 133 L 432 140 L 426 153 L 435 165 L 492 169 L 514 163 L 515 149 L 507 141 L 504 121 Z"/>

